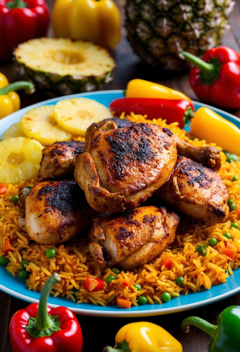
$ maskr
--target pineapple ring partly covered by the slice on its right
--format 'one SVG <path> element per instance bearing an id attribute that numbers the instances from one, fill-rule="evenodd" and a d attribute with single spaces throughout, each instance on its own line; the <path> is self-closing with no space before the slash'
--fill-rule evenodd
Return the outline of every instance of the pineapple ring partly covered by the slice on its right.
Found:
<path id="1" fill-rule="evenodd" d="M 21 118 L 21 128 L 27 137 L 34 138 L 43 145 L 71 139 L 71 134 L 63 131 L 53 118 L 53 105 L 43 105 L 27 111 Z"/>

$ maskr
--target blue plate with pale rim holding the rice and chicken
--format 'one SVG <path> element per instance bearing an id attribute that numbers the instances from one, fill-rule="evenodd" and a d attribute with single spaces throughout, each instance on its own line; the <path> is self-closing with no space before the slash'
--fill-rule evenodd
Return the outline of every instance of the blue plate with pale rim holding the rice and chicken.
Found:
<path id="1" fill-rule="evenodd" d="M 46 104 L 56 104 L 57 101 L 62 99 L 76 98 L 76 97 L 87 97 L 94 99 L 103 105 L 108 106 L 109 103 L 116 98 L 121 98 L 123 95 L 122 90 L 108 90 L 103 92 L 91 92 L 83 94 L 75 94 L 63 96 L 60 98 L 50 99 L 42 101 L 40 103 L 28 106 L 21 109 L 11 115 L 8 115 L 4 119 L 0 120 L 0 135 L 12 124 L 20 121 L 23 114 L 29 109 L 37 106 Z M 206 106 L 230 122 L 233 122 L 236 126 L 240 128 L 240 120 L 231 114 L 228 114 L 220 109 L 213 108 L 208 105 L 204 105 L 199 102 L 194 102 L 196 110 L 201 106 Z M 224 133 L 224 131 L 223 131 Z M 40 294 L 38 292 L 29 291 L 25 285 L 23 279 L 13 277 L 4 267 L 0 268 L 0 289 L 7 294 L 17 297 L 21 300 L 27 302 L 38 302 Z M 187 296 L 181 295 L 180 297 L 173 297 L 168 303 L 159 304 L 145 304 L 143 306 L 131 307 L 129 309 L 120 308 L 118 306 L 94 306 L 93 304 L 77 304 L 64 297 L 49 297 L 49 305 L 51 307 L 65 306 L 71 309 L 75 314 L 91 315 L 91 316 L 151 316 L 151 315 L 161 315 L 174 312 L 180 312 L 182 310 L 193 309 L 196 307 L 205 306 L 229 296 L 232 296 L 240 292 L 240 269 L 234 271 L 234 275 L 229 276 L 227 282 L 224 284 L 218 284 L 212 286 L 209 290 L 202 289 L 197 293 L 189 293 Z"/>

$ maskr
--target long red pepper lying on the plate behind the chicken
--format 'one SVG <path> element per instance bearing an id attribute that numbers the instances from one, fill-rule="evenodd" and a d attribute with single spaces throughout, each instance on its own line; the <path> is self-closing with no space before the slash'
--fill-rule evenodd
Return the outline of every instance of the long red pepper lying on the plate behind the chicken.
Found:
<path id="1" fill-rule="evenodd" d="M 120 116 L 122 112 L 130 115 L 147 115 L 147 118 L 166 119 L 166 122 L 178 122 L 179 127 L 184 127 L 194 116 L 194 105 L 189 100 L 171 100 L 160 98 L 118 98 L 109 104 L 109 108 Z"/>

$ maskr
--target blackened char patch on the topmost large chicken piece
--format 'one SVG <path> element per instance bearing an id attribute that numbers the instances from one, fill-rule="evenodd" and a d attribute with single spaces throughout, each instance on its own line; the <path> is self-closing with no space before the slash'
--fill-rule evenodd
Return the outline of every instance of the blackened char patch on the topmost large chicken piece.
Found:
<path id="1" fill-rule="evenodd" d="M 111 159 L 113 170 L 116 171 L 116 178 L 121 179 L 125 176 L 125 165 L 132 160 L 141 163 L 156 157 L 150 140 L 147 138 L 153 133 L 150 124 L 138 124 L 127 128 L 119 128 L 106 137 L 110 144 L 109 150 L 115 154 Z M 151 125 L 150 125 L 151 126 Z"/>

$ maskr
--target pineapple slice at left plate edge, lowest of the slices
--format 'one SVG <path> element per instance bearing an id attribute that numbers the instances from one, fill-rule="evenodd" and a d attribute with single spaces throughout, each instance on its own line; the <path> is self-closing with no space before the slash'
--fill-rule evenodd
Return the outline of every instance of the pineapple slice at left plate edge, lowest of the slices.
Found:
<path id="1" fill-rule="evenodd" d="M 37 140 L 15 137 L 0 142 L 0 183 L 20 183 L 36 177 L 43 146 Z"/>

